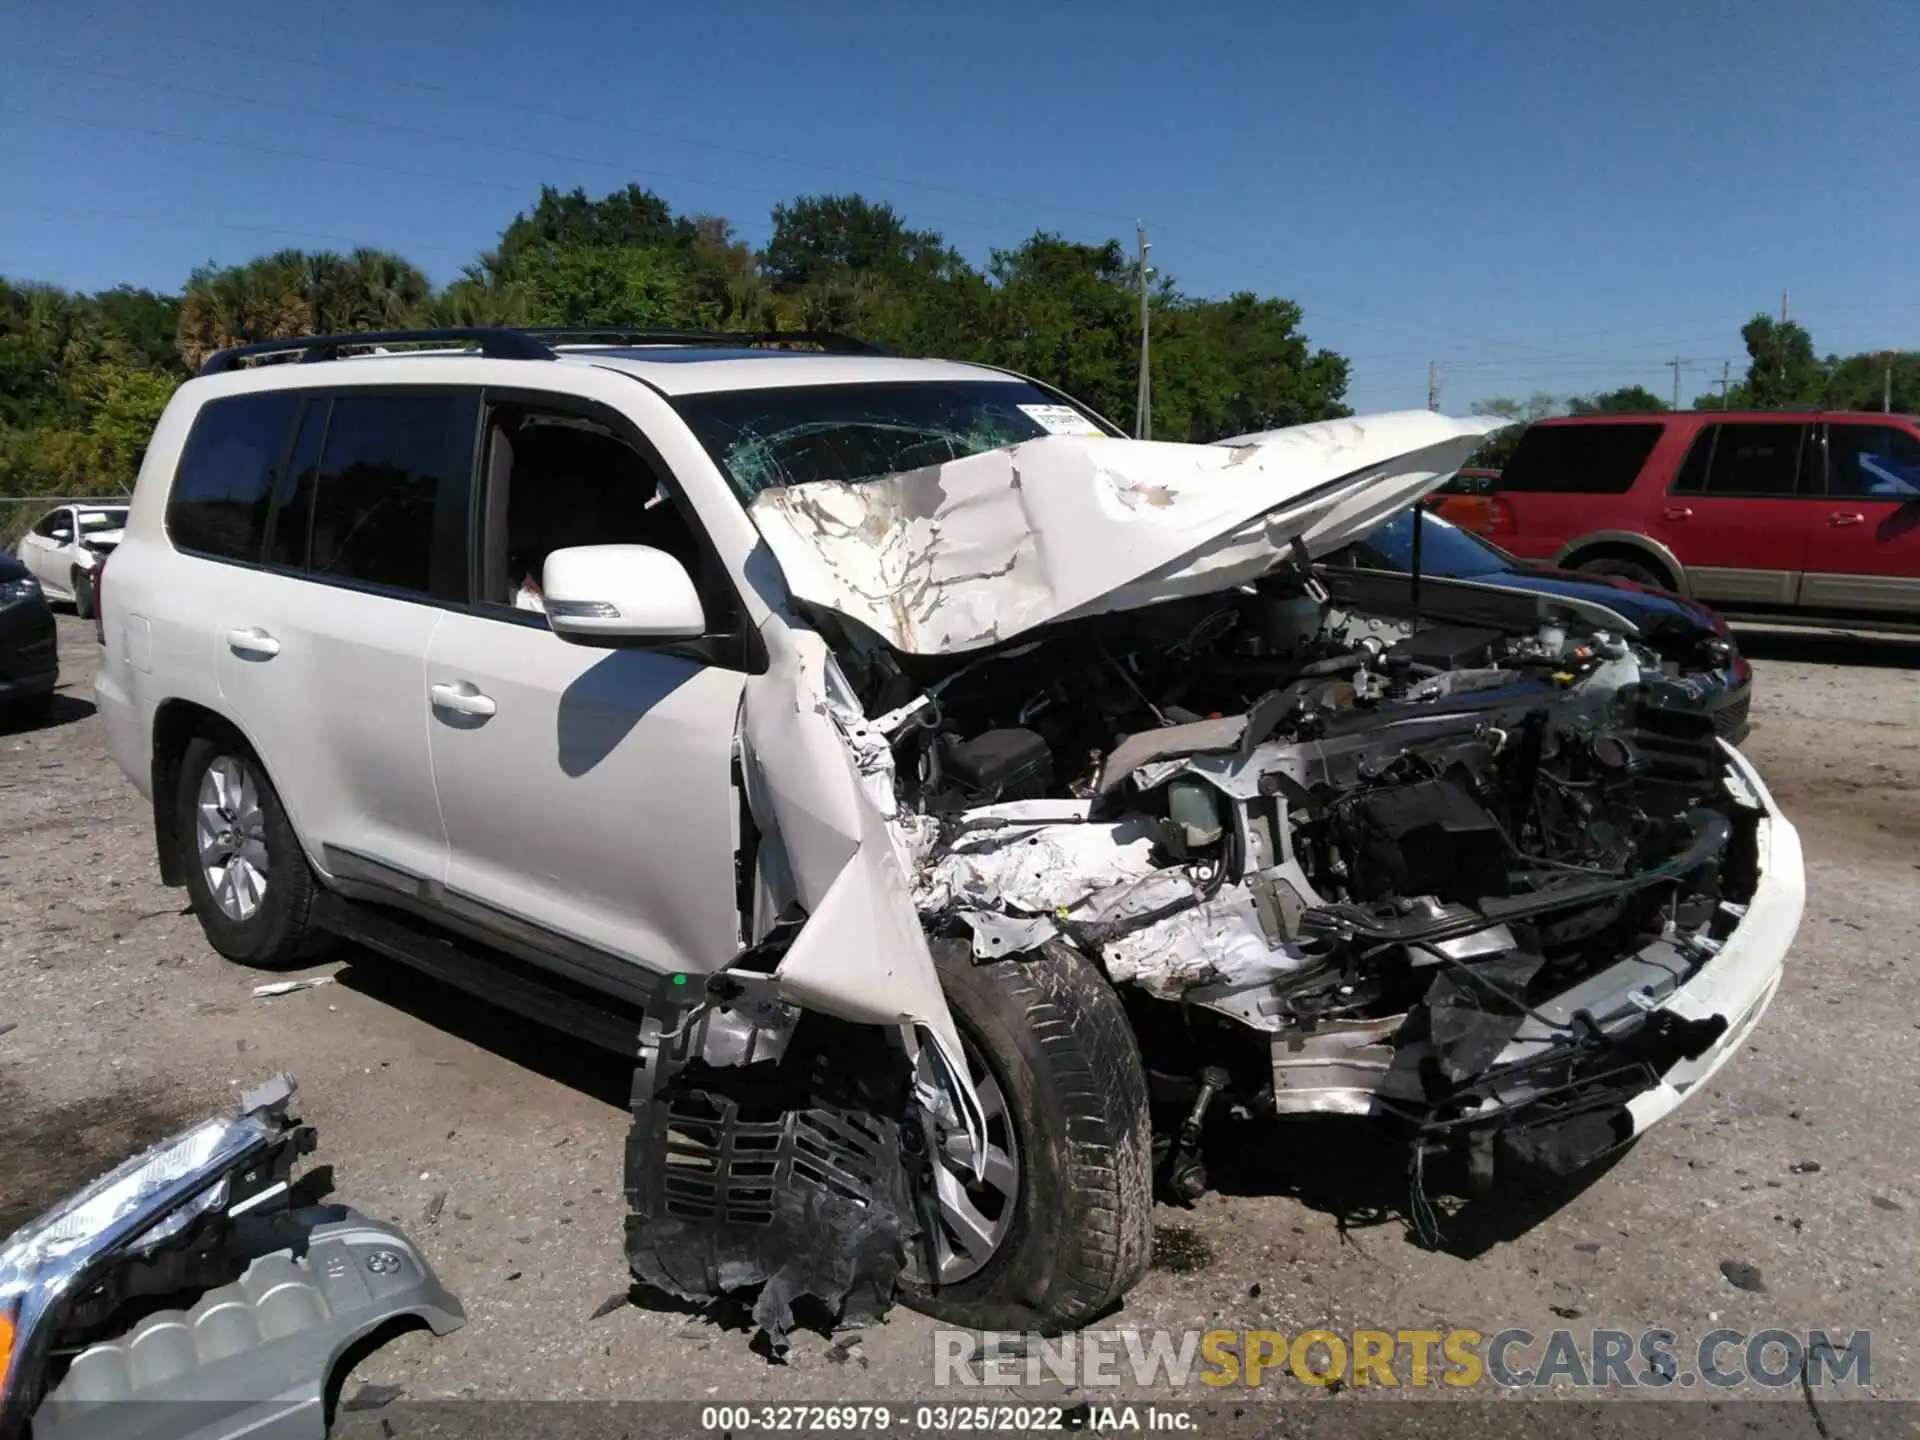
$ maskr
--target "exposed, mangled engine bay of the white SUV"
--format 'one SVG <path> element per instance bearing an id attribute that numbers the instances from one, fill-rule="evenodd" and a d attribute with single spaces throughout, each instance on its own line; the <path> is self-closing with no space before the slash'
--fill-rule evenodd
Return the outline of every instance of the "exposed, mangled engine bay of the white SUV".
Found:
<path id="1" fill-rule="evenodd" d="M 841 660 L 929 929 L 1092 956 L 1198 1096 L 1188 1139 L 1225 1096 L 1567 1171 L 1724 1029 L 1651 1012 L 1741 914 L 1757 810 L 1628 636 L 1413 626 L 1283 574 Z M 1165 1179 L 1196 1173 L 1175 1140 Z"/>

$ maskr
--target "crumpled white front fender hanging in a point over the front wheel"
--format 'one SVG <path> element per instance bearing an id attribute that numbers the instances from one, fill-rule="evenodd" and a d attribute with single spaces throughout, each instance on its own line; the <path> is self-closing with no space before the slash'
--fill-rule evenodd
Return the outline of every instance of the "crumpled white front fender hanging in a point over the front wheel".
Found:
<path id="1" fill-rule="evenodd" d="M 833 720 L 826 641 L 778 614 L 762 634 L 768 670 L 749 676 L 741 697 L 747 803 L 762 831 L 764 870 L 791 889 L 781 899 L 806 912 L 774 972 L 780 993 L 841 1020 L 908 1025 L 933 1046 L 973 1152 L 985 1156 L 985 1112 L 908 877 Z"/>

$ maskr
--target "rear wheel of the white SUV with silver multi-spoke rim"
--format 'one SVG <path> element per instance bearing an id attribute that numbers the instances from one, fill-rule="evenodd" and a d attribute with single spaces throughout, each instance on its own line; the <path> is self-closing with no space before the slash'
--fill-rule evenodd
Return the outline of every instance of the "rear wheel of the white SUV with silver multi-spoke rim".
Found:
<path id="1" fill-rule="evenodd" d="M 259 756 L 238 737 L 196 735 L 175 804 L 186 893 L 207 943 L 257 970 L 307 964 L 321 939 L 319 885 Z"/>

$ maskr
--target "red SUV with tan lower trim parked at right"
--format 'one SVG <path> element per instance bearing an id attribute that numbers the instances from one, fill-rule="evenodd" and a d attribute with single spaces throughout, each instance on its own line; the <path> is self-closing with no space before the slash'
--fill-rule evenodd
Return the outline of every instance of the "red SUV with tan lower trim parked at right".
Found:
<path id="1" fill-rule="evenodd" d="M 1486 536 L 1741 620 L 1920 622 L 1920 422 L 1843 411 L 1538 420 Z"/>

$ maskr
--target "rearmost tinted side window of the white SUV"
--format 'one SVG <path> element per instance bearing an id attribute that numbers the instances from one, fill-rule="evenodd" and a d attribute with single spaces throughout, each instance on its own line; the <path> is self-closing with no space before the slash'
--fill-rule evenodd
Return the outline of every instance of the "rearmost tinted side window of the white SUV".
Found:
<path id="1" fill-rule="evenodd" d="M 180 549 L 257 561 L 273 478 L 300 394 L 271 390 L 202 405 L 167 497 L 167 534 Z"/>

